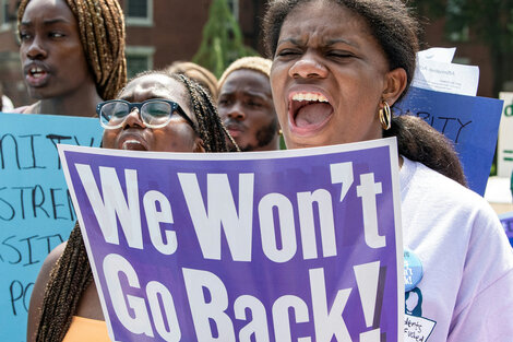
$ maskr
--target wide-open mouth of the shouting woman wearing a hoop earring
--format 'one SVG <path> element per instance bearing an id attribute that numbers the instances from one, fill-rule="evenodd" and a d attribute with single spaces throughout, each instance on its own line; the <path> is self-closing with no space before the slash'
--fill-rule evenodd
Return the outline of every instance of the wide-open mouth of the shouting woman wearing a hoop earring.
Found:
<path id="1" fill-rule="evenodd" d="M 289 96 L 290 129 L 300 134 L 318 131 L 332 117 L 333 106 L 317 92 L 297 92 Z"/>

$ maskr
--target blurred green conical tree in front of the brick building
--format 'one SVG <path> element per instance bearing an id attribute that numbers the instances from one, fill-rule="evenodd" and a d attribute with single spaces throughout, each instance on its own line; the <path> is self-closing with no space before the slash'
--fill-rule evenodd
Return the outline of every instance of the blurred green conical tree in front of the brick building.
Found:
<path id="1" fill-rule="evenodd" d="M 256 55 L 256 51 L 243 45 L 242 33 L 227 0 L 214 0 L 203 27 L 200 48 L 192 61 L 219 78 L 234 60 L 251 55 Z"/>

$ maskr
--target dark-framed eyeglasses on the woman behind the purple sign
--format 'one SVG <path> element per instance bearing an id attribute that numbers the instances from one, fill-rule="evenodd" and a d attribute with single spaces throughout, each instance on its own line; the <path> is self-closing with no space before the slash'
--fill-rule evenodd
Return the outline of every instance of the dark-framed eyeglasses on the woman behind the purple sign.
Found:
<path id="1" fill-rule="evenodd" d="M 130 103 L 124 99 L 109 99 L 96 106 L 99 123 L 105 129 L 117 129 L 123 126 L 124 119 L 138 108 L 141 120 L 146 127 L 162 128 L 169 123 L 172 114 L 178 113 L 195 131 L 194 122 L 183 109 L 172 101 L 151 98 L 141 103 Z"/>

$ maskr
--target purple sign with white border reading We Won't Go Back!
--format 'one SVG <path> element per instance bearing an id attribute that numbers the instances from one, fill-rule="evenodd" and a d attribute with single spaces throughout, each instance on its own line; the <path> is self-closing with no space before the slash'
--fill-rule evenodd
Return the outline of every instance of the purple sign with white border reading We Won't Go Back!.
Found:
<path id="1" fill-rule="evenodd" d="M 403 341 L 395 139 L 59 149 L 112 341 Z"/>

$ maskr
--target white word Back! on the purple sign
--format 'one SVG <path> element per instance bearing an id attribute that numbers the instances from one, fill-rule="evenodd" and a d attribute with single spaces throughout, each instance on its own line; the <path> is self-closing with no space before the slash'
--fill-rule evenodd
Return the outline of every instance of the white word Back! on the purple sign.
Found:
<path id="1" fill-rule="evenodd" d="M 375 309 L 375 298 L 379 282 L 379 262 L 365 263 L 355 267 L 355 276 L 373 273 L 370 281 L 374 284 L 358 283 L 360 297 L 366 311 L 366 321 L 372 321 Z M 227 314 L 230 307 L 230 296 L 223 281 L 212 272 L 182 269 L 187 296 L 190 303 L 194 330 L 199 342 L 241 341 L 250 342 L 252 335 L 256 341 L 271 341 L 269 325 L 272 323 L 276 341 L 293 342 L 294 325 L 312 321 L 314 337 L 300 337 L 299 342 L 330 342 L 333 337 L 339 342 L 351 342 L 343 314 L 351 288 L 336 292 L 334 299 L 329 297 L 322 268 L 309 270 L 310 300 L 296 295 L 283 295 L 272 306 L 271 321 L 267 320 L 265 307 L 260 299 L 251 295 L 241 295 L 234 302 L 236 319 L 247 320 L 246 310 L 251 311 L 251 321 L 238 332 Z M 372 306 L 372 308 L 370 308 Z M 291 314 L 294 311 L 294 314 Z M 311 312 L 311 314 L 310 314 Z M 349 315 L 349 314 L 347 314 Z M 370 318 L 372 316 L 372 318 Z M 215 325 L 215 329 L 213 329 Z M 380 335 L 380 329 L 373 329 L 360 334 L 362 341 L 374 341 Z"/>

